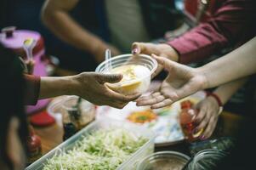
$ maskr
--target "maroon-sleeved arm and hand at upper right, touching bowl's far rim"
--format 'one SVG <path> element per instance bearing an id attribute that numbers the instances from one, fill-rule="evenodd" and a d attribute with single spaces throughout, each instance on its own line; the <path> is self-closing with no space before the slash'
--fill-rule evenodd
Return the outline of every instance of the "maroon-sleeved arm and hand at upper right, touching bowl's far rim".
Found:
<path id="1" fill-rule="evenodd" d="M 186 4 L 193 2 L 200 1 L 185 0 Z M 238 47 L 253 37 L 256 29 L 255 1 L 213 0 L 210 2 L 209 9 L 201 17 L 202 22 L 190 31 L 161 44 L 134 42 L 132 53 L 157 54 L 188 64 L 208 58 L 223 48 Z M 190 8 L 187 7 L 187 9 Z M 185 14 L 191 18 L 195 12 L 185 11 Z"/>

